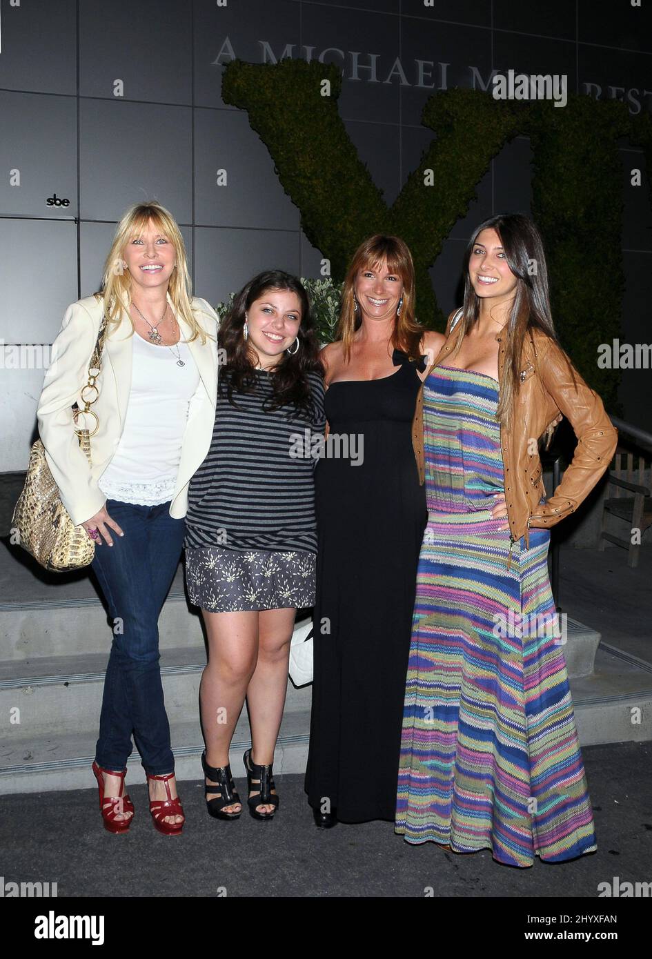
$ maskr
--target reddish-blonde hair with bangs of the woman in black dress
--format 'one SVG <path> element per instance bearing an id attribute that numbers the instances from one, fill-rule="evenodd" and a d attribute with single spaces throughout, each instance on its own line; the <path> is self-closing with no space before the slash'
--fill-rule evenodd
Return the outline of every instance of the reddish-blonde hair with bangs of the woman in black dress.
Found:
<path id="1" fill-rule="evenodd" d="M 403 280 L 403 304 L 401 316 L 394 323 L 391 344 L 395 349 L 403 350 L 408 357 L 419 356 L 419 343 L 424 334 L 423 327 L 414 318 L 414 264 L 408 245 L 400 237 L 384 236 L 377 233 L 368 237 L 353 254 L 342 286 L 341 313 L 339 315 L 337 339 L 341 340 L 344 361 L 351 359 L 351 349 L 355 332 L 360 328 L 362 317 L 360 309 L 355 310 L 355 286 L 361 269 L 373 269 L 384 260 L 387 269 Z"/>

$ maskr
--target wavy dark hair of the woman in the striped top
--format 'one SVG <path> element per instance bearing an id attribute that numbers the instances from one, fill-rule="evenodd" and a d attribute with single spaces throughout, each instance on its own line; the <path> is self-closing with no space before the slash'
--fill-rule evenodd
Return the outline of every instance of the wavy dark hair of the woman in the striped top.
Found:
<path id="1" fill-rule="evenodd" d="M 301 324 L 297 336 L 299 347 L 294 354 L 283 352 L 274 367 L 271 377 L 272 396 L 266 409 L 290 406 L 308 410 L 311 405 L 311 389 L 307 373 L 316 371 L 323 375 L 319 360 L 319 342 L 314 329 L 310 300 L 301 281 L 282 269 L 266 269 L 257 273 L 233 300 L 233 305 L 223 318 L 218 332 L 218 347 L 225 351 L 226 363 L 220 371 L 221 395 L 235 406 L 233 394 L 250 392 L 256 383 L 254 372 L 256 354 L 248 339 L 245 339 L 245 313 L 255 300 L 268 290 L 288 290 L 296 293 L 301 303 Z"/>

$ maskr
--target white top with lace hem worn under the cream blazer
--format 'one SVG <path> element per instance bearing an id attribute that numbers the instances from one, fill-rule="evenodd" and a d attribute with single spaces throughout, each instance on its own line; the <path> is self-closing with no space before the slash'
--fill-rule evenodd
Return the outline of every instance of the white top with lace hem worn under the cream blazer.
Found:
<path id="1" fill-rule="evenodd" d="M 176 351 L 183 366 L 176 363 Z M 125 429 L 98 485 L 108 500 L 154 506 L 172 500 L 190 400 L 199 383 L 186 343 L 156 346 L 133 335 Z"/>

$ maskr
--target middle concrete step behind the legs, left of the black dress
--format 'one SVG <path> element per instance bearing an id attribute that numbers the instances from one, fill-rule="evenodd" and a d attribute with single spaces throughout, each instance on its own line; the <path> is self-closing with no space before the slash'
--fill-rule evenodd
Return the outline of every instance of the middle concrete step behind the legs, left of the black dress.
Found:
<path id="1" fill-rule="evenodd" d="M 30 667 L 27 675 L 26 665 Z M 4 738 L 11 742 L 44 736 L 53 729 L 61 736 L 95 729 L 102 707 L 105 665 L 105 653 L 0 664 L 0 715 L 12 716 Z M 171 725 L 192 721 L 198 715 L 199 680 L 205 665 L 203 646 L 200 650 L 163 650 L 161 674 Z M 286 712 L 310 709 L 310 702 L 310 687 L 295 690 L 288 680 Z"/>

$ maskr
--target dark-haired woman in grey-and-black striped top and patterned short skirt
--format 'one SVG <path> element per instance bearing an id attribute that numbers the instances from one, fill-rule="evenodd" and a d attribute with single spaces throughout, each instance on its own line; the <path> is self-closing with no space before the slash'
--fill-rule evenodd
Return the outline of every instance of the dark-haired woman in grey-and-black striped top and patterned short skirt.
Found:
<path id="1" fill-rule="evenodd" d="M 218 343 L 215 428 L 190 484 L 185 541 L 188 592 L 209 645 L 199 688 L 201 763 L 208 812 L 237 819 L 228 752 L 246 697 L 247 803 L 254 818 L 271 819 L 294 617 L 314 604 L 311 450 L 313 433 L 325 427 L 319 344 L 299 280 L 281 270 L 254 276 Z"/>

